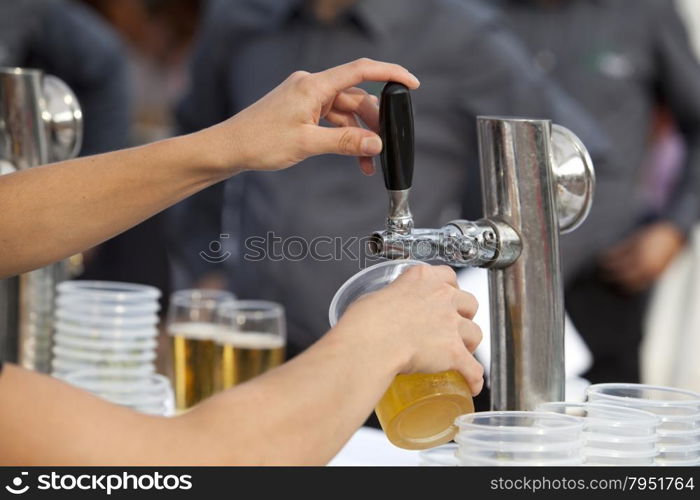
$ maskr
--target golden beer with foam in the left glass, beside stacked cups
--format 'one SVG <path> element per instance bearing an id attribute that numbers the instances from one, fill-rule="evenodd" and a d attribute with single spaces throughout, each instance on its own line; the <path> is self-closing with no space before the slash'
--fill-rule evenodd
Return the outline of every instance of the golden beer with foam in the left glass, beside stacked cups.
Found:
<path id="1" fill-rule="evenodd" d="M 191 408 L 214 394 L 214 367 L 219 327 L 211 323 L 173 323 L 173 386 L 178 410 Z"/>

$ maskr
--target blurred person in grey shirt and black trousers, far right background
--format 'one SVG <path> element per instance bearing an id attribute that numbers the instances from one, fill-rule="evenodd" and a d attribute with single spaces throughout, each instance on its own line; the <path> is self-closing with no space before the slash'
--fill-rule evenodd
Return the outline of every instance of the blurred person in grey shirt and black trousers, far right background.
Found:
<path id="1" fill-rule="evenodd" d="M 700 65 L 671 0 L 500 4 L 534 54 L 531 63 L 586 108 L 613 145 L 596 170 L 593 209 L 609 217 L 593 217 L 562 239 L 566 307 L 594 355 L 584 376 L 637 382 L 649 291 L 700 213 Z M 686 160 L 671 192 L 657 185 L 649 198 L 643 165 L 654 125 L 663 124 L 655 120 L 659 107 L 676 123 Z M 568 265 L 582 248 L 589 258 Z"/>

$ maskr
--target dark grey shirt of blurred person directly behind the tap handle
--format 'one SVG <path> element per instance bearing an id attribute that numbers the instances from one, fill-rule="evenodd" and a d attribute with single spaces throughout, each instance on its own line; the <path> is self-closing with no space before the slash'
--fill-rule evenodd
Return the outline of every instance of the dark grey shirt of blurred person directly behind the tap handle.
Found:
<path id="1" fill-rule="evenodd" d="M 227 118 L 295 70 L 319 71 L 363 56 L 403 64 L 422 82 L 413 93 L 411 205 L 418 227 L 458 217 L 472 196 L 468 185 L 478 184 L 476 115 L 551 118 L 579 134 L 594 156 L 605 147 L 585 112 L 531 67 L 497 15 L 479 2 L 459 0 L 360 1 L 332 26 L 319 24 L 299 1 L 214 2 L 195 53 L 192 88 L 179 111 L 182 130 Z M 367 88 L 378 92 L 381 86 Z M 192 279 L 214 271 L 217 264 L 199 253 L 219 240 L 223 219 L 230 235 L 223 242 L 230 248 L 209 260 L 230 251 L 223 266 L 240 297 L 284 304 L 295 352 L 328 329 L 333 294 L 364 265 L 343 256 L 342 244 L 381 229 L 387 203 L 381 176 L 362 176 L 352 158 L 321 156 L 282 172 L 236 176 L 180 205 L 173 212 L 174 250 Z M 249 260 L 258 252 L 246 252 L 245 241 L 270 232 L 282 239 L 278 250 L 287 241 L 287 258 Z M 338 255 L 293 258 L 304 249 L 290 238 L 319 236 L 337 238 Z M 333 245 L 318 249 L 328 252 Z M 358 252 L 357 245 L 352 249 Z"/>

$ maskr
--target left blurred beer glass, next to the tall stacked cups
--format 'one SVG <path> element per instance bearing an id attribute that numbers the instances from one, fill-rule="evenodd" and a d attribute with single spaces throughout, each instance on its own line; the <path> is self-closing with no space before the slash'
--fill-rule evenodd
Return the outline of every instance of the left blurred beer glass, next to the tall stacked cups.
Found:
<path id="1" fill-rule="evenodd" d="M 173 355 L 173 386 L 178 410 L 191 408 L 214 393 L 216 312 L 234 301 L 222 290 L 181 290 L 172 294 L 168 334 Z"/>

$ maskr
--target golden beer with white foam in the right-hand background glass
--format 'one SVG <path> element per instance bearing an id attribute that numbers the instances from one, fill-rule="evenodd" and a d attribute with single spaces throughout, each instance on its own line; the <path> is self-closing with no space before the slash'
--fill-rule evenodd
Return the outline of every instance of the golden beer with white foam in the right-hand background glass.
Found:
<path id="1" fill-rule="evenodd" d="M 263 332 L 226 332 L 216 347 L 217 390 L 229 389 L 284 362 L 284 338 Z"/>

